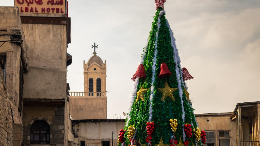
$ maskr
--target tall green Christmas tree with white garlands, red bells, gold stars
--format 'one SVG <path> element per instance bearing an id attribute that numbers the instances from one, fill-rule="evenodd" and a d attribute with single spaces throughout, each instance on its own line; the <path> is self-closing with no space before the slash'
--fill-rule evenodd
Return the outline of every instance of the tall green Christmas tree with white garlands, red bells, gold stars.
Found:
<path id="1" fill-rule="evenodd" d="M 165 0 L 155 0 L 157 12 L 132 80 L 134 90 L 126 127 L 118 145 L 202 145 L 205 131 L 196 121 L 185 81 L 193 78 L 181 68 L 175 38 L 165 18 Z"/>

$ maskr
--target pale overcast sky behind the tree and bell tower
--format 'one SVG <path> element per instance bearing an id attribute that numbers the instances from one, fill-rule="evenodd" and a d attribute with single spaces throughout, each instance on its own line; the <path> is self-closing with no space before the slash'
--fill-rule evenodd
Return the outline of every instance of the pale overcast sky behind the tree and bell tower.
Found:
<path id="1" fill-rule="evenodd" d="M 13 0 L 0 0 L 13 6 Z M 260 101 L 260 1 L 167 0 L 166 18 L 176 38 L 196 114 L 232 112 Z M 71 91 L 84 90 L 83 60 L 107 61 L 107 118 L 128 112 L 133 81 L 151 23 L 154 0 L 69 0 Z M 120 118 L 118 116 L 118 118 Z"/>

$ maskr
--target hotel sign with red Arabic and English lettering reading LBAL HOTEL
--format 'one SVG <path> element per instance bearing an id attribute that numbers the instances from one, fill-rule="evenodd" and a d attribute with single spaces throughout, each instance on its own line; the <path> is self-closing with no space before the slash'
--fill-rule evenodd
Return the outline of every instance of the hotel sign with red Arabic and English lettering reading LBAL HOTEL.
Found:
<path id="1" fill-rule="evenodd" d="M 15 0 L 21 13 L 65 14 L 66 0 Z"/>

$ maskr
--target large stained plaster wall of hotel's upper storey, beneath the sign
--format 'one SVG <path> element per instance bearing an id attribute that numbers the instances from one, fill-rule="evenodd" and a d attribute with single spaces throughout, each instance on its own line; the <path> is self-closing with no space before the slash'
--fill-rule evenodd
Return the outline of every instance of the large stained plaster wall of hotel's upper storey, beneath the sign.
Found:
<path id="1" fill-rule="evenodd" d="M 27 38 L 29 72 L 24 98 L 66 97 L 66 25 L 22 24 Z"/>

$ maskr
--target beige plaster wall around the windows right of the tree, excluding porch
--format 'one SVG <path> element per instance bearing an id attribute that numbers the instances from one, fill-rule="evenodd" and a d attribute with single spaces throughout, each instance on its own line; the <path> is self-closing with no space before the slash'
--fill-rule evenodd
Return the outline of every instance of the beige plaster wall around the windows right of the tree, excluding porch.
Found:
<path id="1" fill-rule="evenodd" d="M 232 113 L 231 113 L 232 114 Z M 218 146 L 218 130 L 230 131 L 230 146 L 236 145 L 236 122 L 231 121 L 230 115 L 223 116 L 196 116 L 199 128 L 202 130 L 215 131 L 215 146 Z M 202 115 L 202 114 L 201 114 Z M 209 121 L 207 121 L 209 120 Z"/>

